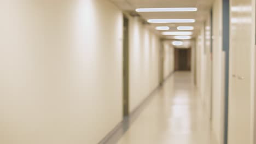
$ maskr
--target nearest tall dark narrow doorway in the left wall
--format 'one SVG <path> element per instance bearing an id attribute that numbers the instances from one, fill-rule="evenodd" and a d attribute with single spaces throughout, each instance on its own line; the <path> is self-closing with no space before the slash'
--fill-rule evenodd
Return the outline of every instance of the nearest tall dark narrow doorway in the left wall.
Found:
<path id="1" fill-rule="evenodd" d="M 124 16 L 123 33 L 123 116 L 129 115 L 129 19 Z"/>

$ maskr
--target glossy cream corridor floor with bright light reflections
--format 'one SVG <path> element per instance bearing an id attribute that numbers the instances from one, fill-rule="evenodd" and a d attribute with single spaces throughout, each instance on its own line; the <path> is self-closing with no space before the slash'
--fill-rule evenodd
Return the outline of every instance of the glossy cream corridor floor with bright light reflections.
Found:
<path id="1" fill-rule="evenodd" d="M 216 144 L 205 113 L 191 74 L 175 73 L 118 144 Z"/>

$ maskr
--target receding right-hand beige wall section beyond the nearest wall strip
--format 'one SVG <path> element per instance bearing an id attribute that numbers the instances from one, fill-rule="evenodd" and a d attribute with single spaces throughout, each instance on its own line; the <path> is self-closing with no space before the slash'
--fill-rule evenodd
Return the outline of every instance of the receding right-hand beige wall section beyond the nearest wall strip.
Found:
<path id="1" fill-rule="evenodd" d="M 207 19 L 201 27 L 196 38 L 196 82 L 204 106 L 207 118 L 211 117 L 211 16 L 210 11 Z M 193 54 L 194 55 L 194 54 Z M 194 57 L 194 56 L 193 56 Z M 194 65 L 194 62 L 193 62 Z"/>

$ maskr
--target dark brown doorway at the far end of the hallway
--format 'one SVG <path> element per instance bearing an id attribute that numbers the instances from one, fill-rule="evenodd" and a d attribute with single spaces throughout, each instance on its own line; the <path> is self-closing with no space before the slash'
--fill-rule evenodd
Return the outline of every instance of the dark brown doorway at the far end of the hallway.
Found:
<path id="1" fill-rule="evenodd" d="M 175 71 L 191 70 L 191 49 L 175 49 Z"/>

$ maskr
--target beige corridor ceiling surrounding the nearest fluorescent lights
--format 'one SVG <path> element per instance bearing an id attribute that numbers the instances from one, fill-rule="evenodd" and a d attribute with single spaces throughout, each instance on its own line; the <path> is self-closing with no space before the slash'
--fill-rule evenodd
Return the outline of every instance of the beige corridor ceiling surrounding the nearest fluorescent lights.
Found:
<path id="1" fill-rule="evenodd" d="M 195 37 L 203 22 L 206 20 L 212 7 L 212 0 L 109 0 L 117 5 L 120 9 L 135 13 L 137 8 L 197 8 L 197 11 L 190 12 L 146 12 L 138 14 L 144 20 L 148 19 L 195 19 L 195 23 L 150 23 L 148 26 L 156 33 L 162 31 L 155 30 L 156 26 L 169 26 L 170 31 L 177 31 L 178 26 L 194 26 L 193 37 Z M 162 38 L 172 38 L 170 36 L 161 36 Z"/>

